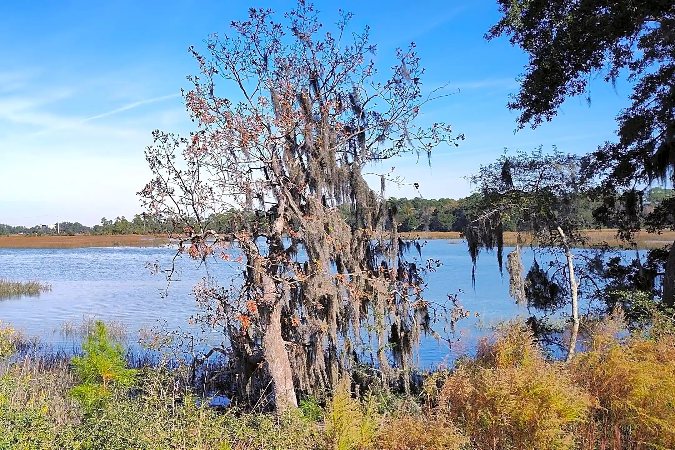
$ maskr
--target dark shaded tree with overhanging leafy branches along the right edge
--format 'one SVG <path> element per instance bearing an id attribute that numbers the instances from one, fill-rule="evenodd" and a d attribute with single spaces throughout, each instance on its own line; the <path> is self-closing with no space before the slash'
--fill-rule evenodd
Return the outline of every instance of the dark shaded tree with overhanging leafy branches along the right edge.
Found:
<path id="1" fill-rule="evenodd" d="M 510 109 L 518 128 L 550 121 L 571 96 L 591 101 L 597 74 L 632 84 L 630 106 L 619 111 L 618 139 L 585 157 L 583 172 L 601 200 L 595 219 L 630 241 L 645 224 L 673 229 L 675 202 L 667 190 L 645 190 L 675 181 L 675 3 L 670 0 L 498 0 L 502 18 L 487 38 L 506 34 L 529 55 Z M 645 203 L 650 207 L 644 210 Z M 643 220 L 644 219 L 644 220 Z M 675 304 L 675 249 L 664 266 L 663 297 Z"/>

